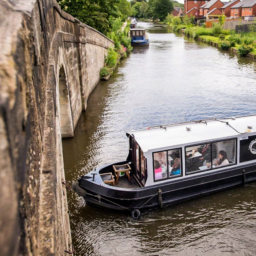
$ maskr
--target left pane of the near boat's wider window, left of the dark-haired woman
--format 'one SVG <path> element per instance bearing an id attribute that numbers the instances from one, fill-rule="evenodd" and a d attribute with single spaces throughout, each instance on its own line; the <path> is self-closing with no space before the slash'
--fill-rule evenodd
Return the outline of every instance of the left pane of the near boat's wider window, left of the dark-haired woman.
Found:
<path id="1" fill-rule="evenodd" d="M 186 147 L 186 172 L 195 172 L 207 169 L 211 162 L 211 143 Z"/>

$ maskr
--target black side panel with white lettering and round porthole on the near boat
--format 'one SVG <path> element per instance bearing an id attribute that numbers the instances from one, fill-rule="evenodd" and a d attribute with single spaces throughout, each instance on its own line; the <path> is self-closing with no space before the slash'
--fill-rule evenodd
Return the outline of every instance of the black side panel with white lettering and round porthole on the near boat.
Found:
<path id="1" fill-rule="evenodd" d="M 256 135 L 240 138 L 240 163 L 256 159 Z"/>

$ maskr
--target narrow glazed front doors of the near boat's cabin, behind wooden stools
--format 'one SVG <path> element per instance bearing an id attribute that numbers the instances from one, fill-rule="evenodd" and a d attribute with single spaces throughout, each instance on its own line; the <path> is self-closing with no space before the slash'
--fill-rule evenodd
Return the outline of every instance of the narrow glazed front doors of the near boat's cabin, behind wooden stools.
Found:
<path id="1" fill-rule="evenodd" d="M 134 163 L 135 175 L 142 185 L 145 185 L 147 179 L 147 165 L 146 159 L 144 157 L 143 151 L 135 140 L 133 140 L 133 154 L 132 162 Z"/>

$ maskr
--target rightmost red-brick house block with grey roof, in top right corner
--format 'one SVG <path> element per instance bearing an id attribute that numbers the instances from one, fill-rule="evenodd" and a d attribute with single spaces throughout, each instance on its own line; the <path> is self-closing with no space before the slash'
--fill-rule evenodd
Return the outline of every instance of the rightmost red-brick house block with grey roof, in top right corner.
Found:
<path id="1" fill-rule="evenodd" d="M 231 17 L 256 16 L 256 0 L 243 0 L 231 7 Z"/>

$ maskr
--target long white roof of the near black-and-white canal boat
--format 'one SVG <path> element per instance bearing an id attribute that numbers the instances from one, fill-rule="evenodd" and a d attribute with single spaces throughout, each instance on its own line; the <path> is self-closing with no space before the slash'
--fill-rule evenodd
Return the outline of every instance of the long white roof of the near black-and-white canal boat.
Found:
<path id="1" fill-rule="evenodd" d="M 208 119 L 187 123 L 148 127 L 128 132 L 139 144 L 143 152 L 148 150 L 178 146 L 181 144 L 196 144 L 201 141 L 218 140 L 256 132 L 256 115 L 222 119 Z M 220 122 L 222 121 L 222 122 Z M 228 122 L 228 124 L 227 124 Z M 252 128 L 248 128 L 252 126 Z M 191 127 L 190 131 L 187 127 Z"/>

